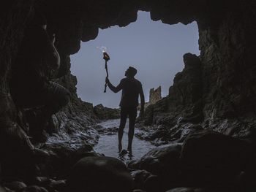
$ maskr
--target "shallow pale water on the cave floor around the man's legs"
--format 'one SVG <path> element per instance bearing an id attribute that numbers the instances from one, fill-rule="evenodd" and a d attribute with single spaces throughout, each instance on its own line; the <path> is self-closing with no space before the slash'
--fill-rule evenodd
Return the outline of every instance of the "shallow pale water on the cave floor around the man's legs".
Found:
<path id="1" fill-rule="evenodd" d="M 113 128 L 119 126 L 120 119 L 115 120 L 107 120 L 102 123 L 99 123 L 100 126 L 103 126 L 104 128 Z M 128 145 L 128 126 L 129 126 L 129 120 L 127 120 L 126 126 L 124 128 L 124 136 L 122 139 L 122 145 L 123 149 L 127 149 Z M 138 132 L 135 128 L 135 133 Z M 94 147 L 94 150 L 98 153 L 103 153 L 106 156 L 120 158 L 122 161 L 129 161 L 132 159 L 138 159 L 141 158 L 143 155 L 145 155 L 148 150 L 153 149 L 155 146 L 151 145 L 150 142 L 146 142 L 144 140 L 140 140 L 137 137 L 133 138 L 132 142 L 132 154 L 123 154 L 120 155 L 118 153 L 118 134 L 101 134 L 99 137 L 98 144 Z"/>

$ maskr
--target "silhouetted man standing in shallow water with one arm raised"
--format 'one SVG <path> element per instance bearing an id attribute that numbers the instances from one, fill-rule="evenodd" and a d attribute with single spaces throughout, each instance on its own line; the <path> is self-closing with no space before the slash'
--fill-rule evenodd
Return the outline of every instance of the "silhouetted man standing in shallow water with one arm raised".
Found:
<path id="1" fill-rule="evenodd" d="M 108 87 L 114 93 L 122 90 L 121 94 L 121 120 L 120 126 L 118 128 L 118 150 L 119 152 L 122 150 L 121 139 L 124 134 L 124 126 L 127 121 L 127 116 L 129 116 L 129 132 L 128 132 L 128 147 L 127 150 L 129 152 L 132 151 L 132 139 L 135 131 L 135 120 L 137 116 L 137 107 L 138 107 L 138 96 L 140 95 L 140 115 L 143 115 L 144 112 L 144 93 L 141 82 L 135 79 L 135 74 L 137 70 L 132 66 L 129 66 L 127 71 L 125 72 L 125 78 L 122 79 L 116 87 L 110 83 L 108 77 L 106 78 L 106 82 Z"/>

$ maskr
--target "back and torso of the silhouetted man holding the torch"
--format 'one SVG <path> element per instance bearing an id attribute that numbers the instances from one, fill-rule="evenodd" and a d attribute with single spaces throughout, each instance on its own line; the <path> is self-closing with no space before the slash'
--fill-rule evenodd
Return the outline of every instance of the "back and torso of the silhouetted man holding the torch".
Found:
<path id="1" fill-rule="evenodd" d="M 121 101 L 120 107 L 138 107 L 138 97 L 142 91 L 142 85 L 135 78 L 124 78 L 121 80 Z"/>

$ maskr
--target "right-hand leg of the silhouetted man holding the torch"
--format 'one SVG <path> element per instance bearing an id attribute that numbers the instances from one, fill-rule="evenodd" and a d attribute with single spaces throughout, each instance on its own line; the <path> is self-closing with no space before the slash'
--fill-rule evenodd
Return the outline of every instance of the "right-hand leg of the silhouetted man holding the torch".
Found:
<path id="1" fill-rule="evenodd" d="M 129 110 L 129 132 L 128 132 L 128 147 L 127 150 L 132 151 L 132 139 L 135 133 L 135 120 L 137 117 L 137 107 Z"/>

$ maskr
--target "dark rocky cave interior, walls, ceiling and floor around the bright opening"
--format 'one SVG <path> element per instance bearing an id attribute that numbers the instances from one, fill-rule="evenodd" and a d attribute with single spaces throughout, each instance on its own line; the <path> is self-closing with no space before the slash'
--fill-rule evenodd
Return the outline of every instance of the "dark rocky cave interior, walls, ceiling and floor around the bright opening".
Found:
<path id="1" fill-rule="evenodd" d="M 173 188 L 180 191 L 193 191 L 195 188 L 203 188 L 204 191 L 254 191 L 255 8 L 255 1 L 241 0 L 2 2 L 0 190 L 43 191 L 47 188 L 47 191 L 83 191 L 88 186 L 83 185 L 78 175 L 90 178 L 87 180 L 89 184 L 104 175 L 90 177 L 87 172 L 79 172 L 82 169 L 94 172 L 94 161 L 98 158 L 100 163 L 118 166 L 120 172 L 115 177 L 105 177 L 109 179 L 107 182 L 110 178 L 121 183 L 125 181 L 123 186 L 128 186 L 127 191 L 138 188 L 144 191 L 176 190 Z M 132 188 L 131 176 L 123 164 L 112 158 L 97 157 L 92 150 L 91 146 L 97 143 L 92 125 L 99 122 L 99 118 L 93 106 L 77 96 L 77 80 L 70 73 L 69 56 L 78 53 L 80 41 L 95 39 L 99 28 L 124 27 L 135 22 L 139 10 L 150 12 L 151 20 L 161 20 L 170 25 L 197 22 L 200 55 L 184 53 L 184 70 L 176 74 L 168 96 L 147 107 L 145 117 L 138 122 L 141 126 L 157 130 L 154 139 L 173 144 L 162 147 L 159 150 L 162 153 L 153 150 L 137 163 L 128 165 L 129 169 L 140 170 L 142 175 L 132 173 L 133 185 L 138 187 Z M 61 64 L 59 71 L 53 74 L 53 80 L 70 93 L 69 104 L 54 113 L 48 128 L 54 129 L 51 134 L 63 141 L 79 135 L 76 139 L 83 145 L 75 148 L 65 145 L 65 142 L 57 146 L 47 142 L 31 144 L 26 132 L 29 129 L 27 121 L 33 119 L 26 115 L 28 109 L 19 107 L 14 101 L 11 80 L 15 78 L 12 73 L 17 66 L 15 58 L 22 51 L 21 43 L 28 38 L 26 27 L 36 12 L 45 15 L 48 34 L 56 34 L 55 45 Z M 33 50 L 30 54 L 33 55 Z M 39 121 L 34 123 L 40 126 Z M 78 161 L 85 156 L 90 158 Z M 91 166 L 85 168 L 83 164 Z M 101 171 L 105 172 L 105 169 Z M 67 172 L 72 172 L 69 177 L 64 176 Z M 146 175 L 143 186 L 136 183 L 136 178 Z M 55 177 L 59 183 L 51 179 Z M 13 182 L 16 182 L 15 186 L 11 185 Z M 100 182 L 97 182 L 99 186 L 94 185 L 94 188 L 100 188 Z M 109 183 L 104 185 L 107 191 L 120 191 Z M 87 190 L 93 191 L 92 188 Z M 94 189 L 97 190 L 102 188 Z"/>

